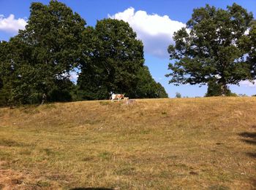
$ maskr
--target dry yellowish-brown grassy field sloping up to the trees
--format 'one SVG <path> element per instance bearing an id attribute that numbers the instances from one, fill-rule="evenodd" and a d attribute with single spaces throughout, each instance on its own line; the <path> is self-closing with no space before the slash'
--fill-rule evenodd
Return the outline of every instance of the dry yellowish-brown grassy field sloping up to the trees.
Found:
<path id="1" fill-rule="evenodd" d="M 0 108 L 0 189 L 256 189 L 256 98 Z"/>

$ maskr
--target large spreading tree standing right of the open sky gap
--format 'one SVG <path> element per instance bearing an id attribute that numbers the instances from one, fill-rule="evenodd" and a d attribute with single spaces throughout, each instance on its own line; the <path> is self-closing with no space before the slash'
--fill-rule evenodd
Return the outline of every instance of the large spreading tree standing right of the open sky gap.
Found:
<path id="1" fill-rule="evenodd" d="M 227 84 L 252 79 L 251 65 L 245 60 L 244 39 L 252 12 L 233 4 L 217 9 L 208 4 L 194 9 L 186 28 L 174 33 L 175 45 L 168 47 L 171 83 L 208 84 L 217 82 L 221 94 Z"/>

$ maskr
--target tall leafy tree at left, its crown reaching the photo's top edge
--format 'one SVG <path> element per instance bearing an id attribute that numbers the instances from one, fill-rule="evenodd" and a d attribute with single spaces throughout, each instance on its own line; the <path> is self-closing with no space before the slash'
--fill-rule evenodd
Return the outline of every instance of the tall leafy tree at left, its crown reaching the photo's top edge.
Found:
<path id="1" fill-rule="evenodd" d="M 86 24 L 58 1 L 32 3 L 30 12 L 26 29 L 10 39 L 4 61 L 10 99 L 20 103 L 34 103 L 29 98 L 39 100 L 69 84 L 69 71 L 80 63 L 80 39 Z"/>

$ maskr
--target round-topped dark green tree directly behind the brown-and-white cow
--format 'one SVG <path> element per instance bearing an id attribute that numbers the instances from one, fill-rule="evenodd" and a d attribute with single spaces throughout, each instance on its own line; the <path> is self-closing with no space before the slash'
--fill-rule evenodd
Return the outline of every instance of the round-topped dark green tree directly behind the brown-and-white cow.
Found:
<path id="1" fill-rule="evenodd" d="M 83 35 L 85 61 L 78 85 L 86 99 L 109 98 L 111 92 L 134 96 L 136 74 L 143 67 L 143 44 L 123 20 L 97 21 Z"/>

